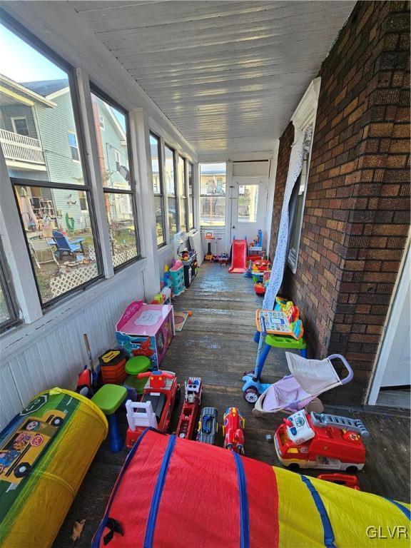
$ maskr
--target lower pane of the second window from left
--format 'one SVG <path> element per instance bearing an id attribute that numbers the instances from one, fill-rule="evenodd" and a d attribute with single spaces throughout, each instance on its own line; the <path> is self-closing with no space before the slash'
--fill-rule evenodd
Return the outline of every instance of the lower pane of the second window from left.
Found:
<path id="1" fill-rule="evenodd" d="M 131 194 L 104 193 L 114 267 L 136 258 L 136 225 Z"/>

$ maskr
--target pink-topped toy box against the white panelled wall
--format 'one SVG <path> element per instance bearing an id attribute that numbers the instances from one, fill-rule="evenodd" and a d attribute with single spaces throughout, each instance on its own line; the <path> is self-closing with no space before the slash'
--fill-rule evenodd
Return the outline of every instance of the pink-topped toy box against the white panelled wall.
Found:
<path id="1" fill-rule="evenodd" d="M 174 333 L 172 305 L 146 305 L 135 300 L 116 323 L 118 347 L 130 357 L 149 357 L 153 369 L 158 369 Z"/>

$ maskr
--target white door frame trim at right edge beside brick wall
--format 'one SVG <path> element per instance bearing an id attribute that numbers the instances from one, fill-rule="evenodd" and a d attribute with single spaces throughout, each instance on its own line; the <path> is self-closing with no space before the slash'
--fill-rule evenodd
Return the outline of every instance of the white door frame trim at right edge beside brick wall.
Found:
<path id="1" fill-rule="evenodd" d="M 411 236 L 409 235 L 407 240 L 407 246 L 402 257 L 400 270 L 398 270 L 394 290 L 392 291 L 391 308 L 389 310 L 389 313 L 387 313 L 385 328 L 380 338 L 380 348 L 379 352 L 377 352 L 372 380 L 370 381 L 368 387 L 369 392 L 367 394 L 367 397 L 365 397 L 367 405 L 375 405 L 377 403 L 377 397 L 380 393 L 382 378 L 384 377 L 395 334 L 397 333 L 397 328 L 401 321 L 402 305 L 404 304 L 405 296 L 407 295 L 407 284 L 410 283 L 410 271 Z"/>

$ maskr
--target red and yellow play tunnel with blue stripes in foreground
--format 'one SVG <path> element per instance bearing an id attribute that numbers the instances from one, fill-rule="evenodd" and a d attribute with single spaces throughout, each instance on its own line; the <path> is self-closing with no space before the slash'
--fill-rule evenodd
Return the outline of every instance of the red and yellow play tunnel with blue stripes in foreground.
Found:
<path id="1" fill-rule="evenodd" d="M 397 532 L 390 547 L 409 548 L 409 504 L 148 429 L 126 459 L 92 547 L 387 546 L 372 537 L 377 527 L 386 537 Z"/>

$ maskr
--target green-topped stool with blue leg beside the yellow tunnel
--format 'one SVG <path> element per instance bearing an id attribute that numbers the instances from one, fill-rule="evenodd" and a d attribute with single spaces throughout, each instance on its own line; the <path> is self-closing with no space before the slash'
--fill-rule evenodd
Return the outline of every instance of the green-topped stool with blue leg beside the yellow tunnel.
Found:
<path id="1" fill-rule="evenodd" d="M 116 411 L 126 399 L 127 390 L 123 386 L 103 385 L 91 398 L 91 401 L 100 407 L 108 420 L 108 437 L 110 439 L 110 449 L 113 453 L 118 453 L 123 447 L 123 438 L 118 430 Z"/>

